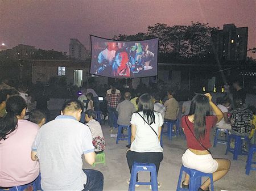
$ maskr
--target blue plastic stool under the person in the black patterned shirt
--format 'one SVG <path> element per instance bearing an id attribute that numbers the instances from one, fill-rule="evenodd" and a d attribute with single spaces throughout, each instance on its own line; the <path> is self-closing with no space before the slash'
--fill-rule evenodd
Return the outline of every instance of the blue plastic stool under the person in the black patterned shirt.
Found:
<path id="1" fill-rule="evenodd" d="M 247 144 L 250 146 L 250 140 L 248 137 L 241 137 L 238 135 L 230 134 L 225 155 L 228 154 L 228 152 L 233 153 L 233 160 L 237 160 L 238 155 L 247 155 L 248 152 L 242 151 L 242 138 L 244 138 Z M 230 148 L 230 142 L 232 139 L 235 141 L 234 148 Z"/>

